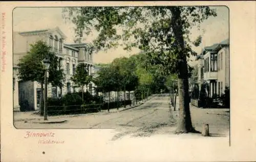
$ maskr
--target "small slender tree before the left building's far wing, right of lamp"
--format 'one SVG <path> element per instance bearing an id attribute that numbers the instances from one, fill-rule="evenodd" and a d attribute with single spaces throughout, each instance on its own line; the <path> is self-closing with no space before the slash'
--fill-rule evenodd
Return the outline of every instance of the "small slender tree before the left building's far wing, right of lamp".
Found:
<path id="1" fill-rule="evenodd" d="M 76 67 L 75 74 L 71 77 L 71 80 L 77 87 L 82 90 L 82 101 L 83 101 L 83 88 L 92 81 L 92 76 L 88 75 L 87 66 L 84 63 L 80 63 Z"/>

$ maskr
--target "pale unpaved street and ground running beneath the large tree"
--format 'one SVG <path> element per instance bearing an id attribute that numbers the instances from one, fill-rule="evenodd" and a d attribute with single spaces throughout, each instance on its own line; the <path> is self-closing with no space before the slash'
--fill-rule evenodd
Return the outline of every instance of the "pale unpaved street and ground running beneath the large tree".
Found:
<path id="1" fill-rule="evenodd" d="M 132 109 L 120 110 L 79 116 L 49 117 L 49 120 L 67 120 L 65 123 L 54 124 L 38 123 L 43 120 L 43 117 L 31 112 L 15 112 L 14 126 L 27 129 L 112 128 L 116 130 L 112 140 L 118 140 L 124 136 L 150 137 L 156 134 L 172 134 L 176 128 L 177 111 L 169 109 L 167 94 L 154 95 L 151 99 Z M 200 109 L 190 105 L 190 112 L 196 130 L 201 131 L 203 124 L 207 123 L 211 136 L 229 136 L 229 109 Z"/>

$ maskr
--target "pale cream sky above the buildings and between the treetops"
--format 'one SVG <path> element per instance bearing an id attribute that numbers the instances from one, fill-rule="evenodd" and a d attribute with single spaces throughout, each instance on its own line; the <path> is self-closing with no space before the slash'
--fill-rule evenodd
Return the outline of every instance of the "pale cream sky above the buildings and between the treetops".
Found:
<path id="1" fill-rule="evenodd" d="M 204 46 L 210 46 L 214 43 L 219 43 L 229 38 L 229 15 L 227 7 L 212 7 L 217 10 L 216 17 L 210 17 L 201 23 L 201 30 L 196 28 L 190 32 L 191 40 L 196 39 L 199 35 L 202 35 L 202 31 L 205 31 L 202 35 L 202 43 L 199 47 L 193 49 L 200 53 Z M 74 43 L 74 24 L 66 22 L 62 17 L 62 8 L 15 8 L 13 10 L 13 31 L 25 32 L 41 29 L 53 29 L 58 26 L 60 30 L 67 36 L 65 43 Z M 88 36 L 85 42 L 91 42 L 95 37 Z M 122 47 L 116 49 L 109 49 L 108 51 L 99 51 L 95 53 L 93 62 L 98 63 L 110 63 L 115 58 L 129 57 L 138 53 L 138 49 L 132 51 L 125 51 Z M 191 58 L 194 59 L 194 58 Z"/>

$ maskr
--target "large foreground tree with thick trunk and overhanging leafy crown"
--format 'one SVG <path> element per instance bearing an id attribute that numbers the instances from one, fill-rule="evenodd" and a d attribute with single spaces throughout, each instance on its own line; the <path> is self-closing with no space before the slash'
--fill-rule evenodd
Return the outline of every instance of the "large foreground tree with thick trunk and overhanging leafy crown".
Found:
<path id="1" fill-rule="evenodd" d="M 176 73 L 180 107 L 176 133 L 194 131 L 189 111 L 187 58 L 196 53 L 191 50 L 189 30 L 209 16 L 216 16 L 214 10 L 207 6 L 79 7 L 67 8 L 64 13 L 76 25 L 78 39 L 93 29 L 99 33 L 93 41 L 95 49 L 116 47 L 122 38 L 124 49 L 138 47 L 150 57 L 150 64 L 163 65 L 168 74 Z M 121 34 L 117 28 L 123 29 Z"/>

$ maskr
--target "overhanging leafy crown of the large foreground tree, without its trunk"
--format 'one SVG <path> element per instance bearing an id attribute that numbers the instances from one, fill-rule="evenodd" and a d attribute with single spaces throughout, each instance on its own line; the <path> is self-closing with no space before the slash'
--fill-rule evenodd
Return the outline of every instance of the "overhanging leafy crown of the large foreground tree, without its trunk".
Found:
<path id="1" fill-rule="evenodd" d="M 167 72 L 173 73 L 177 72 L 180 58 L 175 31 L 172 30 L 172 18 L 178 11 L 186 39 L 183 53 L 189 57 L 189 54 L 196 54 L 189 44 L 189 29 L 209 16 L 216 16 L 215 10 L 209 7 L 74 7 L 66 8 L 63 14 L 76 25 L 77 39 L 81 39 L 81 33 L 89 35 L 96 30 L 99 33 L 94 40 L 96 49 L 120 44 L 127 50 L 138 47 L 147 53 L 150 64 L 161 64 Z M 117 29 L 122 29 L 122 32 Z M 194 41 L 195 45 L 200 43 L 201 36 Z"/>

